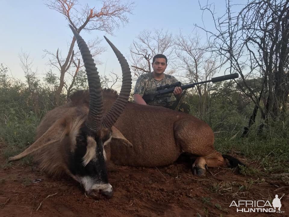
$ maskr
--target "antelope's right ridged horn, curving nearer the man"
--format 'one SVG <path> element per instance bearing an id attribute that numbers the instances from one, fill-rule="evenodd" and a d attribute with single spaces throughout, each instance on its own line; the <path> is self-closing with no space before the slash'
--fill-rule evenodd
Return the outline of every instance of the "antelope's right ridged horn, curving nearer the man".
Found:
<path id="1" fill-rule="evenodd" d="M 105 36 L 104 38 L 117 56 L 117 59 L 120 62 L 121 70 L 123 72 L 123 80 L 120 94 L 102 121 L 104 127 L 111 128 L 112 125 L 117 121 L 117 118 L 123 112 L 129 99 L 129 93 L 132 88 L 132 74 L 130 72 L 129 64 L 127 63 L 121 52 L 113 45 L 113 43 L 110 42 L 110 40 L 108 40 Z"/>

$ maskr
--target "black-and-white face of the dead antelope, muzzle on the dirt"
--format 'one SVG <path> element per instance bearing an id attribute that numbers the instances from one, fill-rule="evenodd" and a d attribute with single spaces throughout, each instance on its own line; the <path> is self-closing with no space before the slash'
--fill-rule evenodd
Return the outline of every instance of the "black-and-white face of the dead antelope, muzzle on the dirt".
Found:
<path id="1" fill-rule="evenodd" d="M 111 131 L 101 130 L 99 135 L 89 134 L 83 128 L 80 131 L 75 150 L 70 153 L 68 168 L 89 196 L 95 199 L 100 199 L 101 195 L 110 198 L 113 190 L 107 178 L 103 148 L 111 137 Z"/>

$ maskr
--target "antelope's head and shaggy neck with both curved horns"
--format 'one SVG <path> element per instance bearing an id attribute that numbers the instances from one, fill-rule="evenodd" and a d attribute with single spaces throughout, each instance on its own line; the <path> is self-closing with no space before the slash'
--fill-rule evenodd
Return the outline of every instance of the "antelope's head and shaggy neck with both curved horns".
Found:
<path id="1" fill-rule="evenodd" d="M 116 54 L 122 71 L 123 81 L 120 95 L 110 108 L 105 107 L 97 68 L 92 55 L 70 26 L 79 46 L 89 83 L 89 102 L 68 102 L 54 108 L 45 115 L 37 127 L 36 141 L 25 151 L 8 160 L 21 159 L 34 154 L 42 170 L 51 175 L 66 173 L 80 182 L 86 193 L 99 197 L 100 193 L 111 197 L 112 186 L 108 182 L 103 146 L 114 135 L 112 126 L 123 112 L 131 90 L 131 72 L 123 55 L 107 39 Z M 124 139 L 125 140 L 125 139 Z"/>

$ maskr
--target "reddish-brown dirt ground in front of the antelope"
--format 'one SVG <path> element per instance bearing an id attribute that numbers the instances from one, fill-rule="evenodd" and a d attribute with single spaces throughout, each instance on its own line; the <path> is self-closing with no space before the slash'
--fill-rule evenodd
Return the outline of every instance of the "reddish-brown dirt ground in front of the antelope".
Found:
<path id="1" fill-rule="evenodd" d="M 1 149 L 1 148 L 0 148 Z M 0 162 L 5 159 L 0 152 Z M 118 167 L 109 173 L 111 199 L 86 197 L 70 178 L 54 179 L 35 165 L 0 168 L 0 216 L 289 216 L 289 187 L 269 177 L 252 178 L 229 168 L 198 177 L 185 163 L 163 168 Z M 232 200 L 269 200 L 285 213 L 240 213 Z"/>

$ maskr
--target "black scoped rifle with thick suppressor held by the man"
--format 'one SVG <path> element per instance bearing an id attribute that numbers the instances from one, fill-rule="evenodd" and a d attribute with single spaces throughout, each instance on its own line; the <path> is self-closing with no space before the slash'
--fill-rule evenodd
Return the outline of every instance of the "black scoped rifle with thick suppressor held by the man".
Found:
<path id="1" fill-rule="evenodd" d="M 191 84 L 187 84 L 187 85 L 183 85 L 183 86 L 182 86 L 181 82 L 177 82 L 177 83 L 173 83 L 173 84 L 166 84 L 164 86 L 157 87 L 156 93 L 146 94 L 142 98 L 144 99 L 144 101 L 146 103 L 148 103 L 148 102 L 151 102 L 152 100 L 154 100 L 155 97 L 174 92 L 174 89 L 175 89 L 176 86 L 181 87 L 182 90 L 186 90 L 188 88 L 194 87 L 197 84 L 208 83 L 208 82 L 215 83 L 215 82 L 219 82 L 219 81 L 223 81 L 223 80 L 229 80 L 229 79 L 234 79 L 234 78 L 238 78 L 238 77 L 239 77 L 239 74 L 235 73 L 235 74 L 229 74 L 229 75 L 223 75 L 223 76 L 219 76 L 219 77 L 214 77 L 211 80 L 201 81 L 201 82 L 198 82 L 198 83 L 191 83 Z"/>

